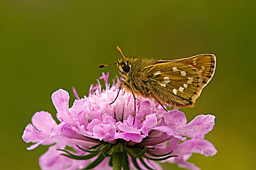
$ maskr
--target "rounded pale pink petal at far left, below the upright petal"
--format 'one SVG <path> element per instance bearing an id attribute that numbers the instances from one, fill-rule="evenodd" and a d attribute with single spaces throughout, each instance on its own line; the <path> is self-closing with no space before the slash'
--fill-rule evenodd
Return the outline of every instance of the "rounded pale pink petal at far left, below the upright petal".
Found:
<path id="1" fill-rule="evenodd" d="M 45 111 L 37 112 L 33 115 L 32 124 L 41 132 L 51 133 L 52 130 L 57 126 L 56 121 L 52 115 Z"/>

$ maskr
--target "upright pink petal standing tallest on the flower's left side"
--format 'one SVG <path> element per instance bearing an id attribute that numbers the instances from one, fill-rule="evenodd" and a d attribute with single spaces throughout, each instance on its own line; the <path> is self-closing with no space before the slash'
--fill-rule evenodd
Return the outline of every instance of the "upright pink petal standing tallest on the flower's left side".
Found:
<path id="1" fill-rule="evenodd" d="M 58 91 L 52 94 L 53 104 L 58 112 L 58 118 L 61 121 L 68 122 L 69 120 L 69 112 L 68 112 L 68 101 L 69 94 L 67 91 L 63 89 L 59 89 Z"/>

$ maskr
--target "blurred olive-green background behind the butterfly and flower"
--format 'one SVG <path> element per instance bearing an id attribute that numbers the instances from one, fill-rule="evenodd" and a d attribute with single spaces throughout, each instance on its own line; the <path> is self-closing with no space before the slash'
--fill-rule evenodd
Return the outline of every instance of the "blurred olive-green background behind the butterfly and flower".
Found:
<path id="1" fill-rule="evenodd" d="M 36 111 L 55 117 L 51 94 L 63 88 L 88 95 L 102 71 L 125 55 L 177 59 L 200 53 L 217 56 L 214 78 L 188 120 L 213 114 L 206 139 L 213 157 L 194 154 L 202 170 L 251 170 L 256 167 L 256 1 L 0 1 L 0 169 L 38 170 L 48 147 L 26 151 L 23 130 Z M 177 170 L 177 165 L 164 165 Z"/>

